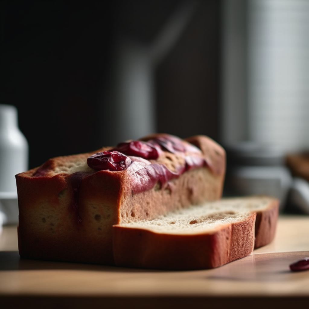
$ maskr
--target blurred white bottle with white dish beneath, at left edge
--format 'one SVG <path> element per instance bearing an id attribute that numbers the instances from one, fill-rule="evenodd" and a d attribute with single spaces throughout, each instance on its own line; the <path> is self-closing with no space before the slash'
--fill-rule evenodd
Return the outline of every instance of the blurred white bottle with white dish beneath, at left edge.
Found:
<path id="1" fill-rule="evenodd" d="M 17 109 L 0 104 L 0 212 L 3 223 L 18 222 L 15 175 L 28 170 L 28 142 L 18 128 Z"/>

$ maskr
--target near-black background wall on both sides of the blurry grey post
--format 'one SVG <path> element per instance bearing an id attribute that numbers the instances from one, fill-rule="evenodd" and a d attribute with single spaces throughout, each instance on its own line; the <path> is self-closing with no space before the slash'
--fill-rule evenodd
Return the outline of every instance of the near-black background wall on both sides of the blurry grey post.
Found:
<path id="1" fill-rule="evenodd" d="M 18 108 L 30 168 L 104 145 L 100 121 L 115 36 L 150 40 L 178 3 L 1 2 L 0 102 Z M 160 132 L 218 139 L 219 6 L 201 2 L 156 70 Z"/>

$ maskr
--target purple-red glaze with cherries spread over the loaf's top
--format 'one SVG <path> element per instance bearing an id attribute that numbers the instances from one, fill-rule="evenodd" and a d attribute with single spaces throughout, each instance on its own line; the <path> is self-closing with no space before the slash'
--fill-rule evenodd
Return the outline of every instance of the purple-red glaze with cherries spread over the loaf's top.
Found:
<path id="1" fill-rule="evenodd" d="M 180 166 L 176 172 L 172 172 L 163 164 L 150 163 L 147 159 L 157 159 L 162 148 L 171 153 L 183 155 L 185 165 Z M 185 155 L 185 152 L 193 154 Z M 157 182 L 163 188 L 169 180 L 178 178 L 185 171 L 205 165 L 205 159 L 200 155 L 201 150 L 196 146 L 185 143 L 176 136 L 164 134 L 147 142 L 120 143 L 111 151 L 90 156 L 87 163 L 91 168 L 98 171 L 122 171 L 127 168 L 131 177 L 133 192 L 139 193 L 153 188 Z"/>

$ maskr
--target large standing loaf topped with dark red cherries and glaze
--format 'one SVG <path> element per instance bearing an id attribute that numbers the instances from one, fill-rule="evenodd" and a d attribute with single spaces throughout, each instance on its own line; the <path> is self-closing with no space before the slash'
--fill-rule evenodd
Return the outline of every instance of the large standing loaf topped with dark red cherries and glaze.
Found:
<path id="1" fill-rule="evenodd" d="M 19 254 L 114 265 L 113 225 L 218 200 L 224 173 L 225 151 L 205 136 L 155 134 L 50 159 L 16 175 Z"/>

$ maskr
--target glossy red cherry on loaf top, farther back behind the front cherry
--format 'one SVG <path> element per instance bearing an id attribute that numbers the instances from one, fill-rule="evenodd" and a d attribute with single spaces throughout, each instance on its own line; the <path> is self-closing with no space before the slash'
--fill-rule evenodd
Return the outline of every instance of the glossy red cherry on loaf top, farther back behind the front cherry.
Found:
<path id="1" fill-rule="evenodd" d="M 120 151 L 125 155 L 138 156 L 144 159 L 155 160 L 159 157 L 158 151 L 154 147 L 141 141 L 119 143 L 113 150 Z"/>

